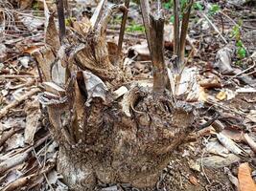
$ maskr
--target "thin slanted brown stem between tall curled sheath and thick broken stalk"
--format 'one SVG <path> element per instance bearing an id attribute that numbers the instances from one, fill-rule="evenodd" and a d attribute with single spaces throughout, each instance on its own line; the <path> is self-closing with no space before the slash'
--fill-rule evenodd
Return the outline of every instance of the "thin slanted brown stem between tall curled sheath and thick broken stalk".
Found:
<path id="1" fill-rule="evenodd" d="M 128 9 L 129 0 L 125 1 L 125 6 Z M 124 34 L 125 34 L 125 30 L 126 30 L 127 19 L 128 19 L 128 11 L 124 11 L 123 18 L 122 18 L 121 29 L 120 29 L 119 38 L 118 38 L 117 59 L 119 58 L 119 55 L 122 51 L 122 45 L 123 45 L 123 41 L 124 41 Z"/>

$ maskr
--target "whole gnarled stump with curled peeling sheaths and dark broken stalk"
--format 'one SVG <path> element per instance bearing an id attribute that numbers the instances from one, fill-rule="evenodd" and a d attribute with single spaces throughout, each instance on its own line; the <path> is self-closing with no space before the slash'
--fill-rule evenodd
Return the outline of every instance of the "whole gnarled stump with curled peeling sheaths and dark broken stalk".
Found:
<path id="1" fill-rule="evenodd" d="M 66 32 L 58 49 L 48 46 L 35 53 L 45 79 L 53 83 L 47 83 L 39 100 L 46 105 L 50 131 L 59 144 L 58 171 L 73 190 L 116 182 L 153 186 L 175 147 L 192 130 L 193 108 L 176 102 L 165 88 L 161 19 L 149 21 L 149 34 L 160 48 L 150 46 L 158 69 L 153 71 L 153 88 L 131 83 L 109 61 L 105 29 L 109 15 L 119 8 L 105 7 L 83 33 Z M 61 67 L 65 80 L 54 80 Z M 123 84 L 130 84 L 128 92 L 115 96 Z"/>

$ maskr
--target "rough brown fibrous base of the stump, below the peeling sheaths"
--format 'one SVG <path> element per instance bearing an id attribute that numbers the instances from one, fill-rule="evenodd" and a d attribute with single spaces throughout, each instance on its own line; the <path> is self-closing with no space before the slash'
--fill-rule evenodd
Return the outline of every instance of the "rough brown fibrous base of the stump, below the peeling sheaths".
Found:
<path id="1" fill-rule="evenodd" d="M 151 187 L 172 158 L 171 153 L 191 131 L 191 108 L 173 107 L 170 97 L 155 96 L 138 89 L 138 103 L 125 115 L 118 101 L 105 105 L 94 99 L 84 107 L 75 144 L 61 136 L 57 119 L 69 113 L 49 106 L 52 133 L 60 144 L 58 171 L 75 190 L 99 182 L 128 182 L 135 187 Z M 71 130 L 72 131 L 72 130 Z M 74 131 L 76 132 L 76 131 Z M 86 190 L 86 189 L 85 189 Z"/>

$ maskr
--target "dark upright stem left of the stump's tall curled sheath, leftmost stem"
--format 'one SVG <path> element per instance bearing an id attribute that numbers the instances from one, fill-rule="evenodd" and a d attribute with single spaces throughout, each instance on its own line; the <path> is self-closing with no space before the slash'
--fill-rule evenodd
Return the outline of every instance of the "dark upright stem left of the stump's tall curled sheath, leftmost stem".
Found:
<path id="1" fill-rule="evenodd" d="M 63 37 L 66 35 L 63 0 L 57 1 L 57 10 L 58 10 L 59 40 L 61 42 Z"/>

